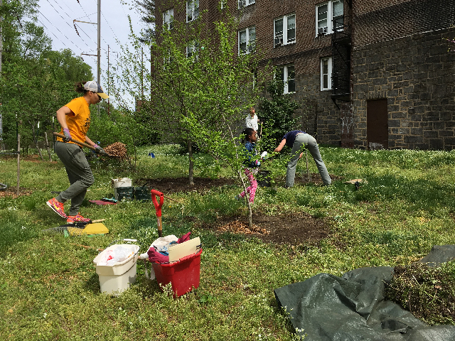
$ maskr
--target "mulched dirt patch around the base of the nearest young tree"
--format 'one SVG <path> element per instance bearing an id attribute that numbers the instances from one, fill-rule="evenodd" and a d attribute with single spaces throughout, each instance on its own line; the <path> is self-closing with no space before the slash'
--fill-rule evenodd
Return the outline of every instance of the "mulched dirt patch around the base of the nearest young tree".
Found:
<path id="1" fill-rule="evenodd" d="M 210 229 L 218 232 L 245 234 L 256 237 L 266 243 L 274 244 L 316 244 L 326 239 L 331 233 L 326 220 L 294 212 L 290 215 L 270 216 L 262 212 L 253 212 L 253 228 L 248 227 L 247 217 L 220 217 Z"/>

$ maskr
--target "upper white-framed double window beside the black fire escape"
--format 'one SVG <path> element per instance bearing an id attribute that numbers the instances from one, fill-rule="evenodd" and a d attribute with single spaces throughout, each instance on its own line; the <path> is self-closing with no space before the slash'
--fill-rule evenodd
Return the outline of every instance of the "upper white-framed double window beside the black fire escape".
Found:
<path id="1" fill-rule="evenodd" d="M 343 0 L 316 6 L 316 36 L 343 31 Z"/>

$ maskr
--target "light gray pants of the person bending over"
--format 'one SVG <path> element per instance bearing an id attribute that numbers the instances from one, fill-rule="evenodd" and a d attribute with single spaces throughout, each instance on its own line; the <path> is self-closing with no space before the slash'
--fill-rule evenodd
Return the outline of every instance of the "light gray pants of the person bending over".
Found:
<path id="1" fill-rule="evenodd" d="M 299 161 L 300 153 L 303 150 L 302 145 L 305 145 L 306 148 L 310 151 L 311 156 L 313 156 L 319 174 L 321 174 L 323 184 L 330 185 L 332 183 L 332 180 L 330 178 L 330 175 L 328 175 L 324 161 L 322 161 L 321 153 L 319 153 L 319 147 L 316 143 L 316 139 L 314 139 L 314 137 L 309 134 L 300 133 L 296 136 L 296 141 L 294 141 L 294 146 L 292 146 L 291 160 L 289 160 L 287 163 L 286 187 L 294 186 L 297 161 Z"/>

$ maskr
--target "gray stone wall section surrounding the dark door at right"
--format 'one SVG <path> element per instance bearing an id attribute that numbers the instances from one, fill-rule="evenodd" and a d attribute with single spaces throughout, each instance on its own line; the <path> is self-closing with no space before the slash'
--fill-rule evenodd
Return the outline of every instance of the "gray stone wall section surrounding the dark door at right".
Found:
<path id="1" fill-rule="evenodd" d="M 455 148 L 455 53 L 441 29 L 353 48 L 355 145 L 367 144 L 367 100 L 387 99 L 389 148 Z"/>

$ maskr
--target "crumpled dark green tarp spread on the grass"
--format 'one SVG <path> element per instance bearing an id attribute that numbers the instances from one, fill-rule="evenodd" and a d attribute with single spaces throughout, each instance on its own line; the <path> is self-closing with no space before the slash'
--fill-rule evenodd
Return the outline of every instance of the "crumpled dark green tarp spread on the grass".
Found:
<path id="1" fill-rule="evenodd" d="M 455 259 L 455 245 L 434 247 L 425 258 L 430 265 Z M 274 293 L 306 341 L 455 340 L 454 325 L 430 327 L 384 300 L 385 282 L 392 276 L 389 266 L 355 269 L 341 277 L 318 274 Z"/>

